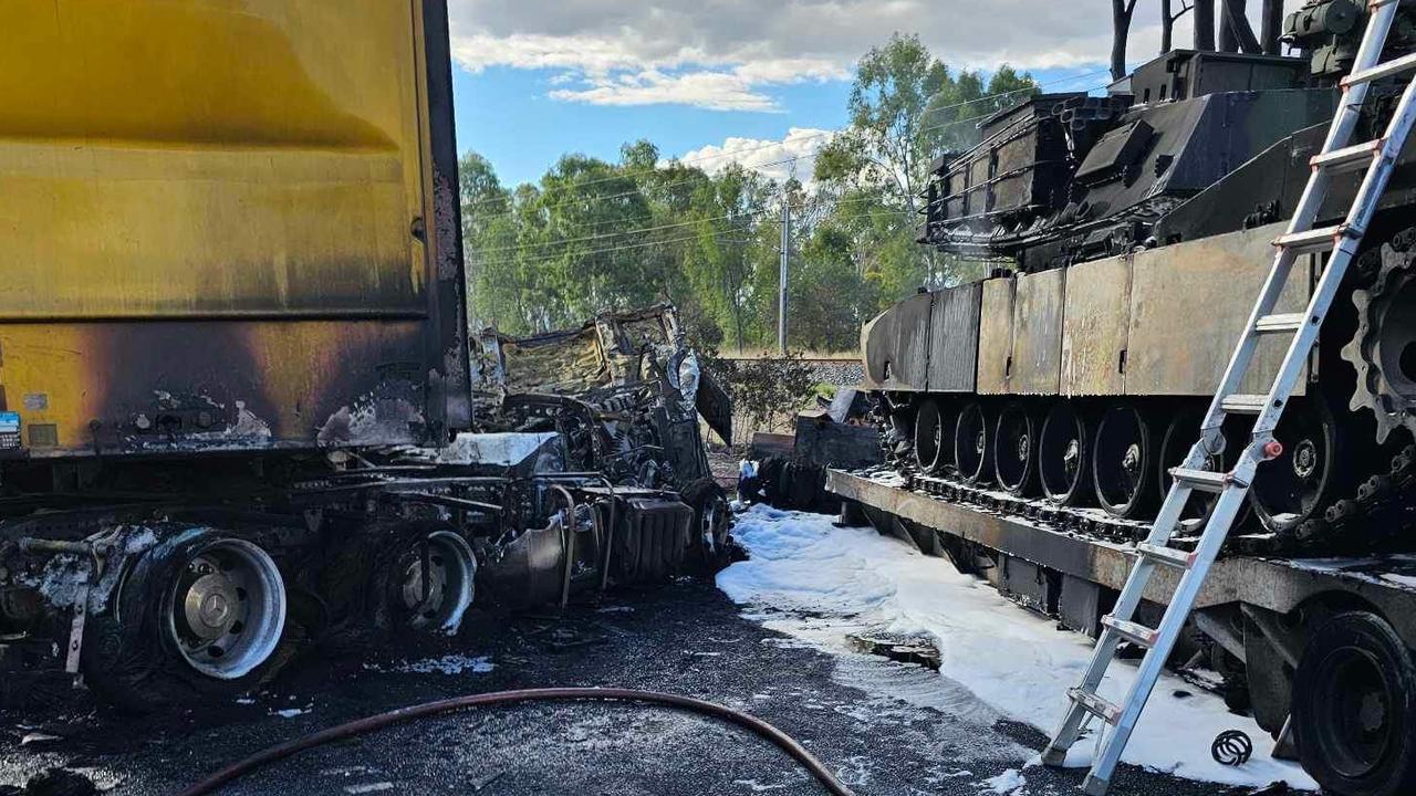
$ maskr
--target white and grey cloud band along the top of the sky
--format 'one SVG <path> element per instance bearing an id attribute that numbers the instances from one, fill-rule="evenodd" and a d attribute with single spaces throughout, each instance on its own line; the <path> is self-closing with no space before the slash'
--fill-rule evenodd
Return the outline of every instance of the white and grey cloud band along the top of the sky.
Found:
<path id="1" fill-rule="evenodd" d="M 1158 6 L 1137 6 L 1133 61 L 1158 48 Z M 953 67 L 984 69 L 1104 64 L 1112 37 L 1103 0 L 450 0 L 450 8 L 463 68 L 552 69 L 549 95 L 565 102 L 716 110 L 780 110 L 773 88 L 848 79 L 861 54 L 896 31 L 918 31 Z M 1185 18 L 1175 44 L 1189 40 Z"/>

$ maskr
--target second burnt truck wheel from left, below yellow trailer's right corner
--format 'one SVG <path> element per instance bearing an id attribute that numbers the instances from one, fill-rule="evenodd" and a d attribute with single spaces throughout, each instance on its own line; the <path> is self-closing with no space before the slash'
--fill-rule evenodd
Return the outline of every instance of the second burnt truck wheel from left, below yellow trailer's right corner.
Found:
<path id="1" fill-rule="evenodd" d="M 374 626 L 391 635 L 453 635 L 472 606 L 476 578 L 467 540 L 438 523 L 418 523 L 374 572 Z"/>

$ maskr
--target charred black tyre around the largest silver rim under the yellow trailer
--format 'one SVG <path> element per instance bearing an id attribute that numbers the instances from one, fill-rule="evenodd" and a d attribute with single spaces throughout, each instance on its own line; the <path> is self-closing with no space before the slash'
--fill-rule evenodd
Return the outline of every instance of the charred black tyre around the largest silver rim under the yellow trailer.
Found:
<path id="1" fill-rule="evenodd" d="M 139 714 L 229 700 L 268 681 L 292 657 L 300 632 L 283 613 L 276 643 L 259 663 L 224 677 L 194 667 L 170 632 L 170 595 L 190 576 L 193 561 L 232 542 L 251 544 L 212 531 L 178 533 L 129 564 L 116 593 L 88 618 L 84 632 L 81 671 L 99 700 Z"/>

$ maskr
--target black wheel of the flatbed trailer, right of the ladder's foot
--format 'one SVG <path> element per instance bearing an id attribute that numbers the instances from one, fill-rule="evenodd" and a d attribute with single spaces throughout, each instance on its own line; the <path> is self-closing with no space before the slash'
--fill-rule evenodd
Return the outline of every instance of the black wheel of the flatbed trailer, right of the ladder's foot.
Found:
<path id="1" fill-rule="evenodd" d="M 1416 666 L 1375 613 L 1340 613 L 1308 639 L 1293 681 L 1303 768 L 1325 792 L 1416 792 Z"/>

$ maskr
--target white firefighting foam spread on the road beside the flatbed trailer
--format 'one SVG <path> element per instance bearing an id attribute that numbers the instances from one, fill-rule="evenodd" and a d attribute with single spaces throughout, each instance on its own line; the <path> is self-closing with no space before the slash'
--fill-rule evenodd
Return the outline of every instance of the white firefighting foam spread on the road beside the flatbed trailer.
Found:
<path id="1" fill-rule="evenodd" d="M 1022 610 L 947 559 L 872 528 L 835 528 L 831 520 L 766 506 L 739 514 L 733 535 L 750 559 L 724 569 L 718 588 L 766 626 L 833 652 L 844 652 L 845 633 L 862 626 L 926 633 L 939 646 L 943 678 L 1011 720 L 1054 729 L 1066 708 L 1066 690 L 1080 681 L 1090 659 L 1090 639 L 1058 630 L 1055 622 Z M 1121 701 L 1133 669 L 1131 661 L 1113 666 L 1102 694 Z M 1223 766 L 1209 756 L 1211 742 L 1225 729 L 1253 738 L 1255 756 L 1243 766 Z M 1083 738 L 1068 765 L 1090 765 L 1093 748 L 1092 738 Z M 1165 674 L 1123 759 L 1187 779 L 1252 786 L 1281 779 L 1317 789 L 1296 763 L 1269 758 L 1270 748 L 1269 734 L 1252 718 L 1231 714 L 1219 697 Z"/>

